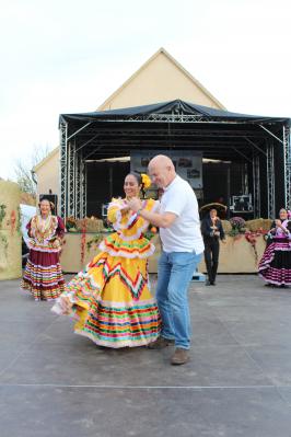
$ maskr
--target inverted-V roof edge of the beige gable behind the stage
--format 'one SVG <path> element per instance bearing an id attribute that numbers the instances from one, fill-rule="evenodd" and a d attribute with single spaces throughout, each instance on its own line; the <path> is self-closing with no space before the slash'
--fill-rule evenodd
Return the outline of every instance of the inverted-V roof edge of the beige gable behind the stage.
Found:
<path id="1" fill-rule="evenodd" d="M 119 97 L 137 79 L 138 77 L 148 70 L 150 66 L 158 60 L 159 57 L 165 57 L 168 62 L 173 65 L 184 77 L 186 77 L 193 85 L 198 89 L 205 96 L 213 102 L 214 106 L 221 110 L 225 110 L 221 102 L 219 102 L 197 79 L 195 79 L 173 56 L 171 56 L 163 47 L 161 47 L 150 59 L 148 59 L 129 79 L 126 80 L 112 95 L 109 95 L 105 102 L 103 102 L 97 111 L 110 110 L 110 104 L 115 99 Z M 181 99 L 181 95 L 175 95 L 174 99 Z M 188 96 L 189 99 L 190 96 Z M 166 97 L 166 100 L 172 100 Z M 156 99 L 153 100 L 156 102 Z M 132 103 L 131 103 L 132 104 Z"/>

